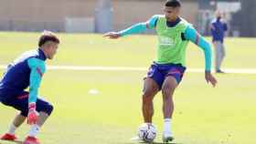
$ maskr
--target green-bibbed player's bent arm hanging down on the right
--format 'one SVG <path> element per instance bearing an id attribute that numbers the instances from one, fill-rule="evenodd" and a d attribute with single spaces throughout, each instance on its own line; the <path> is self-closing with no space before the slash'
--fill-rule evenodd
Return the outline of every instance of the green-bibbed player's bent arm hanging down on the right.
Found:
<path id="1" fill-rule="evenodd" d="M 197 33 L 197 30 L 192 26 L 188 26 L 185 32 L 185 37 L 199 46 L 204 50 L 205 54 L 205 78 L 208 83 L 210 83 L 213 87 L 216 86 L 217 80 L 211 74 L 211 46 L 208 41 Z"/>

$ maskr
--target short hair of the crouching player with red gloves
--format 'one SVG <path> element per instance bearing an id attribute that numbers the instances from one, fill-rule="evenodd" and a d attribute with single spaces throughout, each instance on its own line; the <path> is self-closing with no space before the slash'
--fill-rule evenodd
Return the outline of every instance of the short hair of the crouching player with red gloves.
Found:
<path id="1" fill-rule="evenodd" d="M 59 44 L 59 38 L 54 33 L 51 31 L 44 31 L 39 38 L 38 46 L 43 46 L 49 41 Z"/>

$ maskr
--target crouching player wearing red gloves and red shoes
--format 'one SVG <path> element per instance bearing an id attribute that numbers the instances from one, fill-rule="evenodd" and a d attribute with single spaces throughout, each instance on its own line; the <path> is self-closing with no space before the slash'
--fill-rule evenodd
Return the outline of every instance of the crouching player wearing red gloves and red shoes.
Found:
<path id="1" fill-rule="evenodd" d="M 57 53 L 59 38 L 45 31 L 40 36 L 37 50 L 24 53 L 11 63 L 0 81 L 0 102 L 20 111 L 9 130 L 0 139 L 15 141 L 16 129 L 25 121 L 31 129 L 24 144 L 39 144 L 36 138 L 40 127 L 53 110 L 53 106 L 38 98 L 38 87 L 46 72 L 45 61 Z M 29 87 L 29 92 L 25 89 Z"/>

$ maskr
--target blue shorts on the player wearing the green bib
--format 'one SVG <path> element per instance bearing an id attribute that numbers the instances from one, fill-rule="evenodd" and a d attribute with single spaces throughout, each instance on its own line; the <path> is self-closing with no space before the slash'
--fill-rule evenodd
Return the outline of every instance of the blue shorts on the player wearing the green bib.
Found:
<path id="1" fill-rule="evenodd" d="M 180 83 L 185 70 L 186 67 L 183 67 L 180 64 L 156 64 L 154 62 L 147 72 L 147 77 L 154 79 L 159 89 L 161 89 L 165 81 L 165 77 L 175 77 L 176 82 Z"/>

